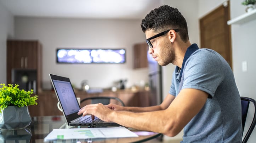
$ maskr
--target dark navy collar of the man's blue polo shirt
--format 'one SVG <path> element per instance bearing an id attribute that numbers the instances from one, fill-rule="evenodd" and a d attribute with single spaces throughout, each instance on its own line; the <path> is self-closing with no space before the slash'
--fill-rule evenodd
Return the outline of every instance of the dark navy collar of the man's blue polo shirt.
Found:
<path id="1" fill-rule="evenodd" d="M 187 61 L 188 58 L 193 54 L 193 52 L 195 52 L 195 51 L 198 50 L 198 49 L 199 49 L 199 48 L 198 48 L 197 44 L 192 44 L 192 45 L 190 45 L 190 46 L 188 47 L 188 49 L 187 49 L 187 51 L 186 51 L 186 53 L 185 53 L 183 62 L 182 62 L 182 67 L 181 67 L 180 73 L 179 73 L 178 78 L 177 78 L 177 80 L 178 80 L 179 82 L 181 82 L 181 76 L 182 76 L 183 69 L 184 69 L 184 65 L 185 65 L 186 61 Z M 178 68 L 178 69 L 180 69 L 180 68 Z M 178 72 L 178 71 L 177 71 L 177 72 Z"/>

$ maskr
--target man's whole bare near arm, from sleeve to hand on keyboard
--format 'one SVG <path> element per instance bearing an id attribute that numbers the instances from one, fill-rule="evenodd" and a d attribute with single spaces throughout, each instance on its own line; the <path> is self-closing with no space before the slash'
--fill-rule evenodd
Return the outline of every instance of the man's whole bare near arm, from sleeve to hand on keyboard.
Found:
<path id="1" fill-rule="evenodd" d="M 177 135 L 184 126 L 201 110 L 208 94 L 198 89 L 182 89 L 165 110 L 152 112 L 127 112 L 110 110 L 102 104 L 87 105 L 79 114 L 93 114 L 105 121 L 146 131 Z"/>

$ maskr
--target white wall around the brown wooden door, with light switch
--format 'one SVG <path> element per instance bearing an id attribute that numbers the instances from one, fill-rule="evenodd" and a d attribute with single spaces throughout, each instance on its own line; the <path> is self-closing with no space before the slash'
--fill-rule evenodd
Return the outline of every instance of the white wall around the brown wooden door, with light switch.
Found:
<path id="1" fill-rule="evenodd" d="M 199 0 L 199 18 L 206 15 L 222 4 L 225 0 Z M 245 13 L 245 6 L 241 5 L 243 0 L 230 0 L 231 19 Z M 240 96 L 246 96 L 256 99 L 256 67 L 254 61 L 256 53 L 255 33 L 256 20 L 252 20 L 242 25 L 232 25 L 232 56 L 233 72 Z M 248 72 L 242 72 L 241 63 L 248 62 Z M 254 109 L 250 107 L 249 118 L 246 120 L 245 130 L 248 129 L 250 116 L 253 115 Z M 248 143 L 256 141 L 256 130 L 252 132 Z"/>

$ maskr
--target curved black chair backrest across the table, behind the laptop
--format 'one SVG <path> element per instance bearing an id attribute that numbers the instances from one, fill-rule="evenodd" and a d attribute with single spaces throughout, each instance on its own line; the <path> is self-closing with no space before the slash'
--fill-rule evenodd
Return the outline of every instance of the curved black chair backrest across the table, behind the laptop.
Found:
<path id="1" fill-rule="evenodd" d="M 110 103 L 110 99 L 119 101 L 122 106 L 125 106 L 124 102 L 117 97 L 87 97 L 81 100 L 81 103 L 86 100 L 91 100 L 91 104 L 102 103 L 103 105 L 108 105 Z"/>

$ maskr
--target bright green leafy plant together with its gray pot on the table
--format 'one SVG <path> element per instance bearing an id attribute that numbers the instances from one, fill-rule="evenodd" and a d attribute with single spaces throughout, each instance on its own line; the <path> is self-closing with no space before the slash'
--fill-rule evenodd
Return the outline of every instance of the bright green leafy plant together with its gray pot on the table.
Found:
<path id="1" fill-rule="evenodd" d="M 31 91 L 24 91 L 15 86 L 1 83 L 0 86 L 0 128 L 20 129 L 27 127 L 31 123 L 28 111 L 29 105 L 37 105 L 38 95 Z"/>

